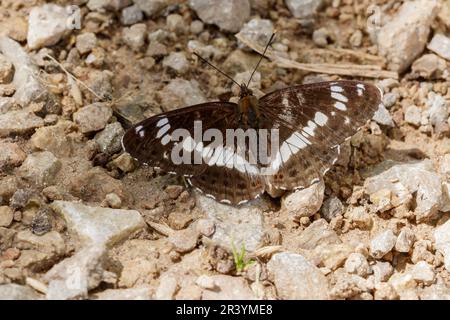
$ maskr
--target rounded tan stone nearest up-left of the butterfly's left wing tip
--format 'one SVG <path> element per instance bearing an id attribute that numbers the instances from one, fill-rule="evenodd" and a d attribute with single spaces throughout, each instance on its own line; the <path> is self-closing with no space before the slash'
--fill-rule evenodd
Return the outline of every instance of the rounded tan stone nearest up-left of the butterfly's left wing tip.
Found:
<path id="1" fill-rule="evenodd" d="M 111 108 L 105 103 L 98 102 L 75 112 L 73 120 L 80 126 L 82 133 L 89 133 L 104 129 L 111 117 Z"/>

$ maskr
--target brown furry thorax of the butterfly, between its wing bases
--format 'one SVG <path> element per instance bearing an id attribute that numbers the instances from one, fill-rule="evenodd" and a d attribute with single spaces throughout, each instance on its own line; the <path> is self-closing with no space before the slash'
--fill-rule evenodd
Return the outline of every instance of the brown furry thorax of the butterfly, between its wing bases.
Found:
<path id="1" fill-rule="evenodd" d="M 258 98 L 253 95 L 245 84 L 241 85 L 239 94 L 238 112 L 239 122 L 243 127 L 256 128 L 261 118 L 258 106 Z"/>

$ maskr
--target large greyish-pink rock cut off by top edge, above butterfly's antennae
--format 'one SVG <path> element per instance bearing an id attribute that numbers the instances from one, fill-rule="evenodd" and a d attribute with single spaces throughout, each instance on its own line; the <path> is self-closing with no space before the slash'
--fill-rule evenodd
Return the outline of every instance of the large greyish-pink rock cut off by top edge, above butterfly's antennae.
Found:
<path id="1" fill-rule="evenodd" d="M 224 31 L 238 32 L 250 18 L 248 0 L 189 0 L 189 6 L 203 22 Z"/>

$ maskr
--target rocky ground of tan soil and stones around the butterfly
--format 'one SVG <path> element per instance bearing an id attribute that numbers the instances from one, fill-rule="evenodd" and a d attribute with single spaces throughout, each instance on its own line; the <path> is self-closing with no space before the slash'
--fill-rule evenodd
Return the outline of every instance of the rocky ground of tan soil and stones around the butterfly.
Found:
<path id="1" fill-rule="evenodd" d="M 235 99 L 194 51 L 247 79 L 275 29 L 257 95 L 384 91 L 324 183 L 234 208 L 122 152 Z M 449 31 L 445 0 L 1 1 L 0 298 L 449 299 Z"/>

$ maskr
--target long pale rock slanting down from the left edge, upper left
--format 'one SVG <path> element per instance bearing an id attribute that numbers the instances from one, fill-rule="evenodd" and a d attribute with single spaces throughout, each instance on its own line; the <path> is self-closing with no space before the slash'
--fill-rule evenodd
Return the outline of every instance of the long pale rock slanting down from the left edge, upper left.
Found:
<path id="1" fill-rule="evenodd" d="M 47 92 L 37 80 L 39 69 L 32 63 L 22 46 L 8 37 L 0 36 L 0 52 L 14 65 L 15 101 L 27 106 L 32 101 L 44 100 Z"/>

